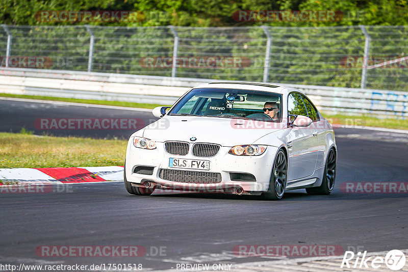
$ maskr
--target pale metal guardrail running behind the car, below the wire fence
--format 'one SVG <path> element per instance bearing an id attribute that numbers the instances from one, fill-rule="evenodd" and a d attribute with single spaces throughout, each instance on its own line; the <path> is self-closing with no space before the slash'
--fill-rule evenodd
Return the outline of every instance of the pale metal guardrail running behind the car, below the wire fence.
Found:
<path id="1" fill-rule="evenodd" d="M 209 81 L 219 80 L 43 69 L 0 70 L 3 93 L 157 104 L 172 104 L 189 88 Z M 407 115 L 408 92 L 283 85 L 302 90 L 325 111 Z"/>

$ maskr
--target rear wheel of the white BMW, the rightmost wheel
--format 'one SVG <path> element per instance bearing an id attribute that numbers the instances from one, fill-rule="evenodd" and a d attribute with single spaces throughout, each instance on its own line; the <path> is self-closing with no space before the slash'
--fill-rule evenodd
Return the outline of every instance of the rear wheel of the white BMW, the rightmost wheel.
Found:
<path id="1" fill-rule="evenodd" d="M 335 186 L 336 181 L 336 151 L 334 148 L 330 148 L 326 165 L 324 167 L 324 173 L 322 178 L 322 184 L 319 187 L 306 188 L 306 192 L 309 195 L 330 195 Z"/>

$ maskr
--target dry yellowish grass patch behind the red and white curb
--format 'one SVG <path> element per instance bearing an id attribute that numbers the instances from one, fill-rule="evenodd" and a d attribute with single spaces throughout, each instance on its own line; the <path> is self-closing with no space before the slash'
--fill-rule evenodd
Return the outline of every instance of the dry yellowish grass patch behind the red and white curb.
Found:
<path id="1" fill-rule="evenodd" d="M 0 168 L 123 166 L 126 140 L 0 133 Z"/>

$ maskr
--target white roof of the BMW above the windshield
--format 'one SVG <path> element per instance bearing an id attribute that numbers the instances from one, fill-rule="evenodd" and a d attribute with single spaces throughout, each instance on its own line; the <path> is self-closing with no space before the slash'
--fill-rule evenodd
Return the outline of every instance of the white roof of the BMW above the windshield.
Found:
<path id="1" fill-rule="evenodd" d="M 201 83 L 194 86 L 194 89 L 197 88 L 220 88 L 220 89 L 245 89 L 253 91 L 263 91 L 284 94 L 289 91 L 299 91 L 287 86 L 277 85 L 277 84 L 268 84 L 261 82 L 247 82 L 247 81 L 214 81 L 210 83 Z M 300 92 L 300 91 L 299 91 Z M 300 92 L 303 93 L 303 92 Z"/>

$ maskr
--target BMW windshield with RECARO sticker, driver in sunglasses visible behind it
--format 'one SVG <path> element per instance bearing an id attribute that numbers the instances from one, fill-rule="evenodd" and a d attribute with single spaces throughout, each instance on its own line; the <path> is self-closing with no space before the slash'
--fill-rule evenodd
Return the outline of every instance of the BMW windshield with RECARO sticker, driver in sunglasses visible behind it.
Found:
<path id="1" fill-rule="evenodd" d="M 267 109 L 264 111 L 264 108 Z M 199 88 L 191 90 L 169 115 L 245 118 L 281 122 L 282 95 L 271 92 Z"/>

